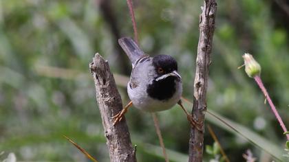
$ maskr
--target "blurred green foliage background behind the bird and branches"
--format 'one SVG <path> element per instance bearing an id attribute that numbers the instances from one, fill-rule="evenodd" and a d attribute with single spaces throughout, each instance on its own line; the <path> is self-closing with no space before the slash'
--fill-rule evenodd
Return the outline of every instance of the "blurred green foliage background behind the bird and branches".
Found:
<path id="1" fill-rule="evenodd" d="M 284 148 L 285 137 L 264 105 L 264 96 L 237 67 L 243 63 L 244 52 L 253 54 L 288 126 L 289 15 L 273 1 L 217 2 L 208 109 Z M 101 3 L 109 3 L 109 8 Z M 202 3 L 134 1 L 142 49 L 178 60 L 184 97 L 189 100 Z M 109 161 L 88 64 L 99 52 L 114 73 L 128 76 L 124 65 L 130 65 L 116 46 L 120 36 L 133 36 L 126 1 L 0 1 L 0 152 L 6 152 L 4 157 L 14 152 L 23 161 L 88 161 L 62 136 L 67 135 L 98 161 Z M 126 104 L 125 87 L 119 90 Z M 158 115 L 172 161 L 185 161 L 186 117 L 177 106 Z M 164 161 L 154 151 L 158 138 L 151 115 L 131 108 L 127 122 L 133 144 L 138 144 L 138 161 Z M 248 141 L 217 126 L 214 130 L 231 161 L 243 161 L 242 153 L 248 148 L 259 159 L 268 157 Z M 213 143 L 208 133 L 204 142 Z M 208 159 L 210 155 L 205 154 L 204 161 Z"/>

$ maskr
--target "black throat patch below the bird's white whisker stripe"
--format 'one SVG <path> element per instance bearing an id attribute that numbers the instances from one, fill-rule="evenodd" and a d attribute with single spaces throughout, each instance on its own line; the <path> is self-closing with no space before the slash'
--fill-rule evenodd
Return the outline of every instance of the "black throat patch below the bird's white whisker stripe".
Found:
<path id="1" fill-rule="evenodd" d="M 147 94 L 149 97 L 158 100 L 169 100 L 175 93 L 175 80 L 173 76 L 169 76 L 164 80 L 153 80 L 152 84 L 147 87 Z"/>

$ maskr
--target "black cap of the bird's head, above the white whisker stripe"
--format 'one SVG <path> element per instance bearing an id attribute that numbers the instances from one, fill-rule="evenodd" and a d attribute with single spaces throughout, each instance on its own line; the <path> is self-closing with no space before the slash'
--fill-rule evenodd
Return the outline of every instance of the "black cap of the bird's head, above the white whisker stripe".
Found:
<path id="1" fill-rule="evenodd" d="M 172 71 L 178 71 L 178 63 L 172 56 L 158 55 L 153 58 L 153 66 L 156 68 L 158 76 L 162 76 Z"/>

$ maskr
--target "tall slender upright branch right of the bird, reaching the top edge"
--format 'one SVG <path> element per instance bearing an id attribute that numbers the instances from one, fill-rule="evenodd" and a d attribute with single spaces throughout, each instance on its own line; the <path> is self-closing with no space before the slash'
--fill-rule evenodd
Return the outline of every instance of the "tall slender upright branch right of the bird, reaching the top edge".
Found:
<path id="1" fill-rule="evenodd" d="M 197 45 L 197 60 L 195 82 L 193 89 L 193 111 L 195 120 L 202 124 L 202 132 L 191 128 L 189 141 L 189 162 L 203 159 L 204 148 L 204 115 L 206 113 L 206 90 L 208 86 L 208 67 L 211 63 L 213 32 L 215 30 L 215 0 L 204 0 L 202 14 L 200 14 L 200 38 Z"/>

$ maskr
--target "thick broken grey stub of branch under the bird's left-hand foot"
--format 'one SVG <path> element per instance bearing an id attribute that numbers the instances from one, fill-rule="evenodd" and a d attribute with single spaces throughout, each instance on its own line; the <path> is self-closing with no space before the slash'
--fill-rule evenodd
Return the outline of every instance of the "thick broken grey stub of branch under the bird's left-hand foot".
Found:
<path id="1" fill-rule="evenodd" d="M 122 110 L 122 100 L 116 82 L 112 75 L 108 62 L 99 54 L 93 58 L 89 64 L 96 86 L 96 100 L 103 119 L 103 128 L 105 128 L 105 137 L 107 147 L 109 148 L 109 158 L 111 162 L 135 162 L 136 154 L 131 145 L 129 128 L 125 119 L 113 126 L 114 115 Z"/>

